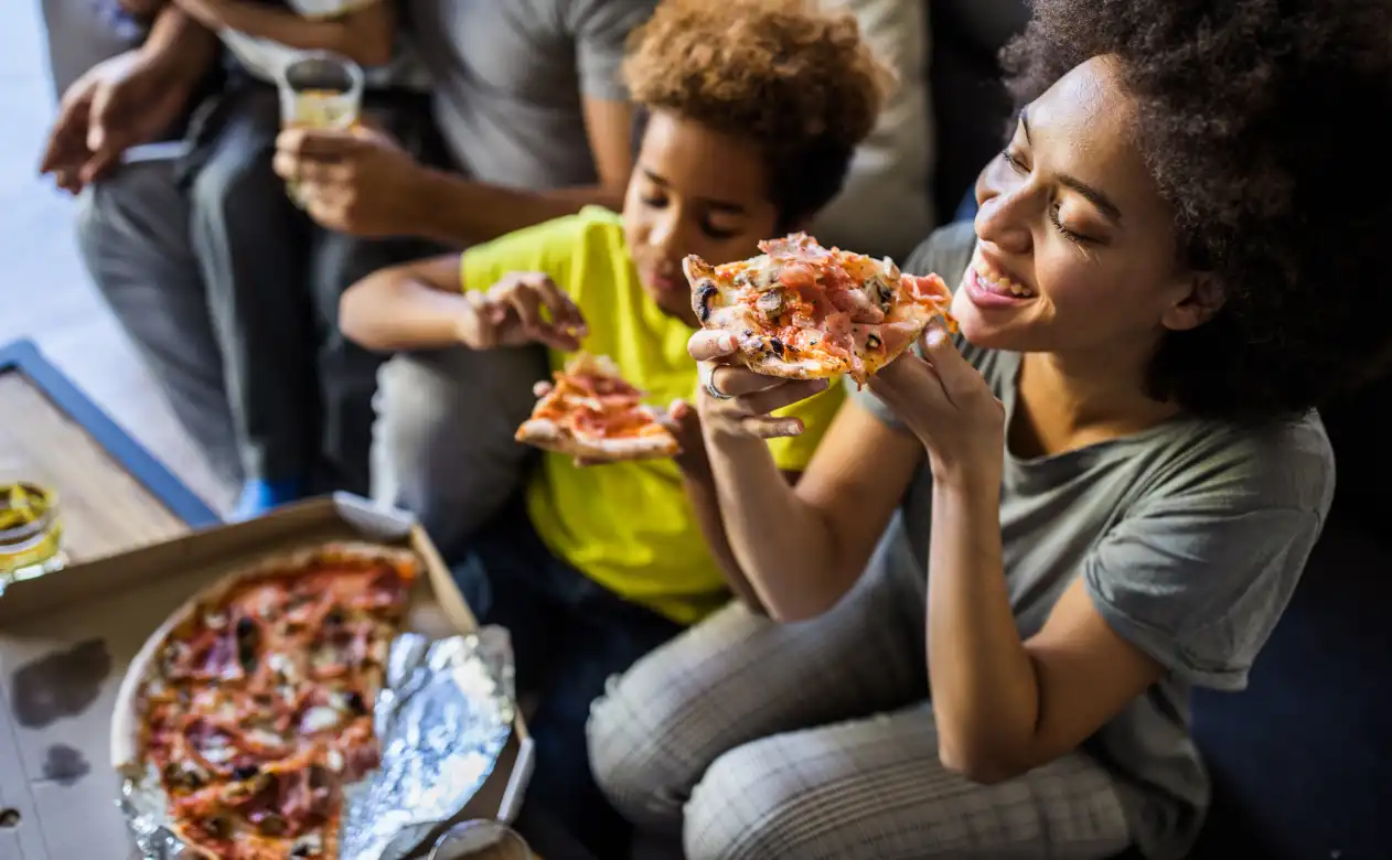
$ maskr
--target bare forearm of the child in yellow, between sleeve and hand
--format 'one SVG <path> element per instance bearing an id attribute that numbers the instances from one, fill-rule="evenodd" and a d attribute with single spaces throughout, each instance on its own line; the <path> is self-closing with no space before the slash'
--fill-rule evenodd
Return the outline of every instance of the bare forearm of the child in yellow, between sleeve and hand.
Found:
<path id="1" fill-rule="evenodd" d="M 472 313 L 462 287 L 457 253 L 383 269 L 344 292 L 338 328 L 381 352 L 457 347 Z"/>

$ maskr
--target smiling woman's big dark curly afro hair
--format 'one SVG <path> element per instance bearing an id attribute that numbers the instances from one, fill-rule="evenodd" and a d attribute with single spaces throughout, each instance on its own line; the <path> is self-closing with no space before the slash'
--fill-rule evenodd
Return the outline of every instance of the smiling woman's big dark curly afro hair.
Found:
<path id="1" fill-rule="evenodd" d="M 1036 0 L 1002 51 L 1018 106 L 1097 56 L 1121 61 L 1137 145 L 1182 262 L 1225 303 L 1168 333 L 1153 395 L 1215 417 L 1303 412 L 1392 342 L 1392 117 L 1384 0 Z"/>

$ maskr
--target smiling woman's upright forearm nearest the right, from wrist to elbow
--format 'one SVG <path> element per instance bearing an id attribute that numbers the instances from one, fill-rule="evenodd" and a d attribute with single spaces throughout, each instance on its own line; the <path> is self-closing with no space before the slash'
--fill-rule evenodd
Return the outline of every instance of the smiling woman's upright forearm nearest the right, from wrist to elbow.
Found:
<path id="1" fill-rule="evenodd" d="M 934 486 L 926 611 L 944 764 L 984 782 L 1015 775 L 1040 687 L 1005 584 L 998 480 Z"/>

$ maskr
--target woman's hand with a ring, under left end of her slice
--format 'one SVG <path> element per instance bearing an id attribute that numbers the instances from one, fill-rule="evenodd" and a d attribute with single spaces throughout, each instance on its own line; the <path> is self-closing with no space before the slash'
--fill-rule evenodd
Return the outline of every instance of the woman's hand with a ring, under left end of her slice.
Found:
<path id="1" fill-rule="evenodd" d="M 696 395 L 702 423 L 715 436 L 777 438 L 803 431 L 796 417 L 770 415 L 784 406 L 825 391 L 828 380 L 788 380 L 754 373 L 729 362 L 739 352 L 735 337 L 725 331 L 702 330 L 686 345 L 700 362 L 700 390 Z"/>

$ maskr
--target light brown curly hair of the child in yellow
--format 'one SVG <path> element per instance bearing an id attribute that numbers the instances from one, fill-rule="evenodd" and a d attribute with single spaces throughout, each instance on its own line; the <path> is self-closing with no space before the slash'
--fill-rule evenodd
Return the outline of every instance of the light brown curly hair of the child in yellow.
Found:
<path id="1" fill-rule="evenodd" d="M 782 227 L 841 191 L 892 79 L 852 15 L 800 0 L 664 0 L 628 46 L 638 104 L 763 148 Z"/>

